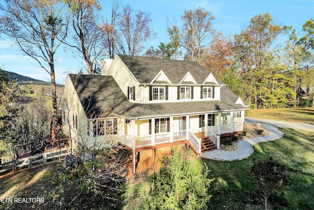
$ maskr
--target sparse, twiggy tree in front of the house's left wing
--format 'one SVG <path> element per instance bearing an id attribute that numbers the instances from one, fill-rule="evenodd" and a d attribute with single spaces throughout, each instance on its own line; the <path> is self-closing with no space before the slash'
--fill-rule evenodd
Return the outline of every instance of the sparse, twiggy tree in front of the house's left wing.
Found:
<path id="1" fill-rule="evenodd" d="M 77 85 L 77 81 L 74 82 Z M 74 89 L 64 89 L 64 95 L 73 96 Z M 111 192 L 120 191 L 120 186 L 126 180 L 127 166 L 129 162 L 119 155 L 118 150 L 123 147 L 117 144 L 117 138 L 113 138 L 117 124 L 105 126 L 105 116 L 94 112 L 91 98 L 84 101 L 86 113 L 72 118 L 74 107 L 78 104 L 75 99 L 68 97 L 63 101 L 64 127 L 70 138 L 70 153 L 66 161 L 57 161 L 51 168 L 59 175 L 60 182 L 54 192 L 60 195 L 57 202 L 59 209 L 71 207 L 82 193 L 93 192 L 102 198 L 117 202 L 117 198 Z M 90 119 L 99 119 L 89 121 Z M 87 122 L 87 123 L 85 123 Z M 90 126 L 93 124 L 93 126 Z M 92 129 L 93 127 L 93 129 Z M 90 136 L 94 135 L 93 140 Z M 105 138 L 104 138 L 105 137 Z M 77 145 L 76 147 L 73 147 Z M 56 159 L 58 160 L 58 158 Z M 69 194 L 75 196 L 70 197 Z"/>

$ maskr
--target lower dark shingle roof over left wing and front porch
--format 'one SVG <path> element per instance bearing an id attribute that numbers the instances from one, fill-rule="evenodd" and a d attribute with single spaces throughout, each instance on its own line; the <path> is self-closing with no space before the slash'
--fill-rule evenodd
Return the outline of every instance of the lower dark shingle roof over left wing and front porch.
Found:
<path id="1" fill-rule="evenodd" d="M 111 76 L 69 76 L 73 84 L 76 84 L 75 90 L 86 113 L 105 112 L 135 119 L 245 109 L 242 105 L 235 105 L 238 97 L 226 87 L 221 88 L 221 101 L 137 104 L 127 99 Z M 109 111 L 110 108 L 114 108 L 112 112 Z M 92 116 L 87 114 L 87 117 Z"/>

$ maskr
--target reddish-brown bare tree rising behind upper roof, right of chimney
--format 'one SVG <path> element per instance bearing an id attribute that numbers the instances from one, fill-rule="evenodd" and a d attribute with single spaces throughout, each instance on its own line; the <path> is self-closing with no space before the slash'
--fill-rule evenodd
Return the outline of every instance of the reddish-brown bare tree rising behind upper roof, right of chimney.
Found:
<path id="1" fill-rule="evenodd" d="M 116 50 L 120 54 L 138 56 L 145 42 L 153 38 L 155 33 L 150 29 L 152 19 L 149 13 L 138 11 L 133 15 L 133 12 L 127 5 L 117 23 Z"/>

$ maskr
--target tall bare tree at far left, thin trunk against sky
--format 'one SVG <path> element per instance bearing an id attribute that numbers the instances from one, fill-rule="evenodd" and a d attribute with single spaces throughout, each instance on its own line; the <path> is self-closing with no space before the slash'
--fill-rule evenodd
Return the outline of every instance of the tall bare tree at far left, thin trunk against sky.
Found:
<path id="1" fill-rule="evenodd" d="M 50 74 L 53 115 L 57 115 L 55 53 L 64 41 L 68 21 L 61 0 L 4 0 L 0 5 L 0 32 L 8 35 L 25 55 Z M 46 66 L 48 64 L 49 67 Z"/>

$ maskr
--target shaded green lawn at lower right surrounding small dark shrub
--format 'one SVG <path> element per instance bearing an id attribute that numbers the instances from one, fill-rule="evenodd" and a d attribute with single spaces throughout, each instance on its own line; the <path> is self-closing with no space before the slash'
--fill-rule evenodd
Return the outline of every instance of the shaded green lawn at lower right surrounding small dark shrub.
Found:
<path id="1" fill-rule="evenodd" d="M 314 210 L 314 132 L 280 128 L 284 137 L 254 145 L 254 153 L 238 161 L 202 159 L 215 180 L 209 209 L 263 209 L 262 196 L 249 175 L 252 159 L 272 155 L 287 165 L 289 179 L 282 192 L 268 200 L 269 209 Z"/>

